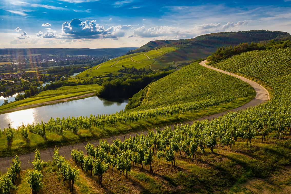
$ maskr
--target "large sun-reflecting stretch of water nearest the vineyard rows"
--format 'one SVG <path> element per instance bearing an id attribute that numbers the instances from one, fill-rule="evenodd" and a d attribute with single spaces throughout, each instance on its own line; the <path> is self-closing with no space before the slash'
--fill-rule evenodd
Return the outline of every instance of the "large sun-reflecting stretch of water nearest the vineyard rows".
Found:
<path id="1" fill-rule="evenodd" d="M 0 115 L 0 128 L 7 128 L 8 124 L 11 127 L 17 129 L 22 123 L 41 123 L 41 120 L 48 122 L 52 118 L 67 118 L 67 117 L 79 117 L 87 116 L 90 114 L 113 114 L 125 109 L 128 100 L 120 100 L 120 102 L 109 101 L 97 96 L 72 100 L 66 102 L 60 102 L 52 105 L 46 105 L 42 107 L 30 108 L 26 110 L 19 110 L 16 112 L 10 112 Z"/>

